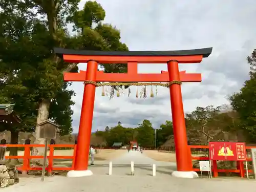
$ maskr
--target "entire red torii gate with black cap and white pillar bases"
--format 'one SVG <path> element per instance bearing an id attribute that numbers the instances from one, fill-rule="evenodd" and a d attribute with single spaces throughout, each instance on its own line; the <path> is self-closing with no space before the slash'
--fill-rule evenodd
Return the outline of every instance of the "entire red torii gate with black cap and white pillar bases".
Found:
<path id="1" fill-rule="evenodd" d="M 179 71 L 178 63 L 199 63 L 208 57 L 212 48 L 181 51 L 89 51 L 55 48 L 54 52 L 66 62 L 87 62 L 87 71 L 65 73 L 65 81 L 87 81 L 84 93 L 79 124 L 77 151 L 74 170 L 68 177 L 92 175 L 88 170 L 90 138 L 92 130 L 95 83 L 96 82 L 169 82 L 170 103 L 172 106 L 174 140 L 176 148 L 176 177 L 194 178 L 190 150 L 187 144 L 186 126 L 183 111 L 181 83 L 201 82 L 200 73 Z M 127 63 L 127 73 L 104 73 L 97 71 L 98 63 Z M 139 74 L 138 63 L 167 63 L 168 72 L 159 74 Z"/>

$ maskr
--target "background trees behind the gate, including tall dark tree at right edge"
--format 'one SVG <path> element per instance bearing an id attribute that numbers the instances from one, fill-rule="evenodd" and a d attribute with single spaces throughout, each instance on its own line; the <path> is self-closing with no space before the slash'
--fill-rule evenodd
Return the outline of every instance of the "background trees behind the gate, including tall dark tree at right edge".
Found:
<path id="1" fill-rule="evenodd" d="M 198 106 L 185 114 L 188 143 L 206 145 L 210 141 L 256 141 L 256 49 L 247 56 L 250 65 L 249 80 L 244 82 L 238 93 L 229 96 L 230 104 L 222 106 Z M 166 121 L 160 127 L 152 127 L 149 120 L 143 120 L 138 127 L 106 127 L 92 135 L 96 145 L 112 146 L 114 142 L 127 144 L 136 140 L 144 147 L 173 147 L 173 123 Z"/>

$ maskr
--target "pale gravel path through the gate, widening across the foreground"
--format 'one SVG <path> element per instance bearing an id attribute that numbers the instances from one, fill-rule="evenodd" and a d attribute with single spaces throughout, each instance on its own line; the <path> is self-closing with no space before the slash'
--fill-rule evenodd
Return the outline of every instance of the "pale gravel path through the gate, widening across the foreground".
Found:
<path id="1" fill-rule="evenodd" d="M 135 176 L 131 176 L 130 162 L 134 161 Z M 241 192 L 255 189 L 256 181 L 246 179 L 181 179 L 170 176 L 175 163 L 157 162 L 132 151 L 113 161 L 113 175 L 109 176 L 109 162 L 98 161 L 90 169 L 94 173 L 90 177 L 67 178 L 63 176 L 46 177 L 42 183 L 40 178 L 22 178 L 19 184 L 3 188 L 7 192 Z M 157 175 L 152 176 L 152 164 L 157 165 Z"/>

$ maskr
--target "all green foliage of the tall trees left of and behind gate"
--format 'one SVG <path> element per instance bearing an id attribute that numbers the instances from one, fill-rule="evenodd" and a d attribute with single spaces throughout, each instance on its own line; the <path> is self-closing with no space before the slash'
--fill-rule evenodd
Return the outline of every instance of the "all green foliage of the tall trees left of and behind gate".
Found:
<path id="1" fill-rule="evenodd" d="M 89 50 L 128 50 L 120 31 L 101 24 L 105 11 L 88 1 L 78 11 L 78 0 L 22 0 L 0 2 L 0 101 L 15 103 L 23 119 L 19 131 L 34 131 L 41 100 L 50 100 L 49 118 L 60 125 L 60 134 L 72 132 L 71 83 L 63 82 L 64 71 L 77 72 L 77 63 L 56 58 L 53 47 Z M 70 35 L 67 22 L 79 31 Z M 106 65 L 106 72 L 125 72 L 126 66 Z M 116 128 L 118 131 L 118 127 Z M 114 132 L 114 130 L 112 131 Z"/>

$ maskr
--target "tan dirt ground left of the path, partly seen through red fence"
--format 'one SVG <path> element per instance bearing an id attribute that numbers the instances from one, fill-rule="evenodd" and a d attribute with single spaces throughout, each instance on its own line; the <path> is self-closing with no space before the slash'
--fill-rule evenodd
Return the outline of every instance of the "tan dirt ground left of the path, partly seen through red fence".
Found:
<path id="1" fill-rule="evenodd" d="M 126 150 L 99 150 L 98 154 L 95 154 L 94 159 L 95 160 L 110 160 L 114 159 L 116 157 L 119 157 L 123 153 L 125 153 Z M 54 156 L 72 156 L 74 153 L 73 150 L 55 150 Z M 6 156 L 9 155 L 9 152 L 6 152 Z M 18 156 L 23 156 L 24 151 L 18 151 Z M 49 155 L 49 151 L 48 151 Z"/>

